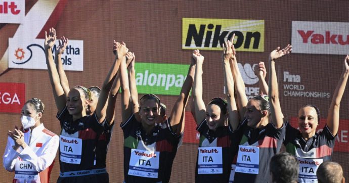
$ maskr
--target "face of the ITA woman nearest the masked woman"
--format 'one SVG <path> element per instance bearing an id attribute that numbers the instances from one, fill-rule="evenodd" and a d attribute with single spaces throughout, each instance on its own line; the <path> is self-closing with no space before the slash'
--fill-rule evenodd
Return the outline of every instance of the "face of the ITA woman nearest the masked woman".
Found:
<path id="1" fill-rule="evenodd" d="M 70 115 L 82 115 L 89 105 L 89 100 L 85 99 L 82 92 L 73 88 L 69 91 L 66 105 Z"/>

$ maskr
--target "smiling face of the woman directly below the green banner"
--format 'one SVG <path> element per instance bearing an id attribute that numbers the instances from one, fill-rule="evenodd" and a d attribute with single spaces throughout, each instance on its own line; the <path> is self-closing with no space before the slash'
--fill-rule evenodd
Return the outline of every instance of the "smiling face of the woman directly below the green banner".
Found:
<path id="1" fill-rule="evenodd" d="M 153 127 L 160 115 L 160 106 L 153 99 L 142 100 L 140 106 L 140 115 L 143 126 Z"/>

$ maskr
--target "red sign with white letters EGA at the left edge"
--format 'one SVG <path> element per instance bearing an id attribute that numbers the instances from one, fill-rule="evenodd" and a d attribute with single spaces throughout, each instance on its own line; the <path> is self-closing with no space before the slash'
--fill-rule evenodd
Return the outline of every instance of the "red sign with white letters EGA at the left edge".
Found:
<path id="1" fill-rule="evenodd" d="M 0 112 L 20 114 L 24 103 L 24 83 L 0 82 Z"/>

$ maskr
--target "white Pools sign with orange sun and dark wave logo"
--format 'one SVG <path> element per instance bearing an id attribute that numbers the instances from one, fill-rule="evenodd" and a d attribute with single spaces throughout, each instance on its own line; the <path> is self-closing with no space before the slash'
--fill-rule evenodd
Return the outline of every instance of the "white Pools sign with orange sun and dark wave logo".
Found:
<path id="1" fill-rule="evenodd" d="M 9 67 L 22 69 L 47 69 L 44 39 L 22 40 L 9 38 Z M 52 53 L 58 47 L 52 48 Z M 69 40 L 69 45 L 62 54 L 64 70 L 83 71 L 83 41 Z"/>

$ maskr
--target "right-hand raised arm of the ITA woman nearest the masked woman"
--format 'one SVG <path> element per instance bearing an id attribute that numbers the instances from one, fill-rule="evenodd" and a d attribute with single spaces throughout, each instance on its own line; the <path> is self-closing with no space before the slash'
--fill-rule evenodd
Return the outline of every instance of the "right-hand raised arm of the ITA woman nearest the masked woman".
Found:
<path id="1" fill-rule="evenodd" d="M 116 44 L 114 40 L 114 44 Z M 126 48 L 126 45 L 123 46 Z M 126 48 L 127 49 L 127 48 Z M 119 54 L 119 53 L 118 53 Z M 123 53 L 120 52 L 120 57 Z M 119 55 L 118 55 L 119 56 Z M 97 108 L 96 108 L 96 115 L 99 119 L 99 122 L 103 122 L 106 116 L 107 112 L 107 101 L 109 96 L 109 91 L 113 85 L 113 81 L 116 77 L 116 73 L 119 70 L 120 62 L 122 62 L 122 59 L 118 59 L 118 56 L 115 57 L 115 60 L 113 62 L 112 67 L 110 68 L 101 88 L 101 94 L 98 98 Z"/>

